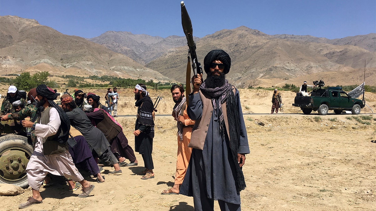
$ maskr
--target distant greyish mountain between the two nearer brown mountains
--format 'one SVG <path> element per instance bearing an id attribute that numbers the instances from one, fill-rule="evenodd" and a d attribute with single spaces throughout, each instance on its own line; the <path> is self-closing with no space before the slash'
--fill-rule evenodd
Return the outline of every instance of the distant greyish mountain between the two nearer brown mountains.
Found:
<path id="1" fill-rule="evenodd" d="M 194 38 L 198 40 L 199 38 Z M 161 38 L 150 35 L 134 35 L 130 32 L 108 31 L 89 41 L 106 46 L 108 49 L 124 54 L 140 64 L 146 64 L 158 58 L 171 48 L 185 46 L 185 36 Z"/>

